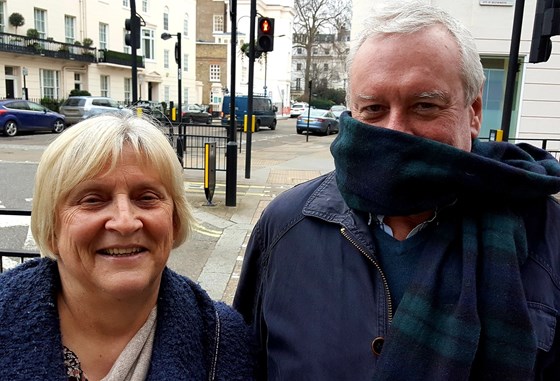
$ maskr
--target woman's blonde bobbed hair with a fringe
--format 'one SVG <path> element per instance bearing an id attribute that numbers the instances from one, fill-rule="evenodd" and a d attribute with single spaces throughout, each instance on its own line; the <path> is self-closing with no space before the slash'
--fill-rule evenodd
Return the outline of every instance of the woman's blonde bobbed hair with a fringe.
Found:
<path id="1" fill-rule="evenodd" d="M 31 232 L 41 255 L 55 258 L 58 208 L 81 182 L 114 169 L 125 147 L 142 165 L 155 169 L 173 200 L 177 234 L 173 247 L 189 236 L 193 223 L 186 199 L 183 169 L 166 136 L 146 118 L 102 114 L 65 130 L 43 153 L 33 191 Z"/>

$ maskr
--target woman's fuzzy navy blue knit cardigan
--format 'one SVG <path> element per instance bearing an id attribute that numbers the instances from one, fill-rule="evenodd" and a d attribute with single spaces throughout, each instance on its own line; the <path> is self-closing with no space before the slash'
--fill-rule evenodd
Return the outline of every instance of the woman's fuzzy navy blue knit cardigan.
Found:
<path id="1" fill-rule="evenodd" d="M 59 290 L 58 268 L 50 259 L 0 275 L 0 380 L 68 380 L 56 307 Z M 237 312 L 166 268 L 147 380 L 252 380 L 249 337 Z"/>

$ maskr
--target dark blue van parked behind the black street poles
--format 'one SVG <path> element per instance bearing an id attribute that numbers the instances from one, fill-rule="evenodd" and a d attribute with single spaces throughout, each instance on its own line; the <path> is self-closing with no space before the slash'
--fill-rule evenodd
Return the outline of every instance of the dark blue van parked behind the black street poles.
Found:
<path id="1" fill-rule="evenodd" d="M 235 96 L 235 123 L 238 130 L 243 128 L 245 115 L 249 110 L 249 97 L 247 95 Z M 276 129 L 276 112 L 278 107 L 272 104 L 272 100 L 268 97 L 253 96 L 253 115 L 255 116 L 255 131 L 259 131 L 261 127 L 268 127 L 271 130 Z M 231 96 L 226 95 L 222 100 L 222 126 L 229 126 L 231 118 Z"/>

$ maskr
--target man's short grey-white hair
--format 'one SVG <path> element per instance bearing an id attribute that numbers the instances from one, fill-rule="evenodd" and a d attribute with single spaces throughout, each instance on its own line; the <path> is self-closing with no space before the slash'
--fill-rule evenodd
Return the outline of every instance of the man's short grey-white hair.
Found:
<path id="1" fill-rule="evenodd" d="M 385 34 L 411 34 L 433 25 L 442 25 L 457 42 L 461 52 L 461 72 L 467 104 L 478 96 L 484 84 L 484 69 L 470 31 L 446 11 L 419 0 L 384 2 L 372 9 L 364 29 L 346 60 L 348 74 L 358 49 L 371 37 Z M 350 75 L 346 104 L 350 104 Z"/>

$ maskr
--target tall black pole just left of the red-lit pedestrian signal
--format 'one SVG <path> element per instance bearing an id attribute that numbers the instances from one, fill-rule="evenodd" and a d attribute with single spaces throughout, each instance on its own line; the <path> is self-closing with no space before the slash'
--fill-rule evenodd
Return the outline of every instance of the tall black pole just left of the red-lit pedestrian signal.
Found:
<path id="1" fill-rule="evenodd" d="M 229 16 L 231 20 L 230 38 L 230 109 L 222 110 L 229 112 L 228 142 L 226 148 L 226 206 L 237 204 L 237 142 L 235 132 L 237 124 L 235 120 L 235 70 L 236 70 L 236 45 L 237 45 L 237 0 L 229 2 Z"/>

